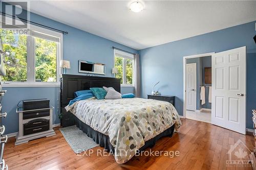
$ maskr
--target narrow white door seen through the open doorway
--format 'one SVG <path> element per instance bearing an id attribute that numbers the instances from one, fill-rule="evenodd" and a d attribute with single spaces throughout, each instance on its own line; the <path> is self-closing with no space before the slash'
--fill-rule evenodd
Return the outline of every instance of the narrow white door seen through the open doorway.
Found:
<path id="1" fill-rule="evenodd" d="M 186 110 L 197 106 L 197 63 L 186 64 Z"/>

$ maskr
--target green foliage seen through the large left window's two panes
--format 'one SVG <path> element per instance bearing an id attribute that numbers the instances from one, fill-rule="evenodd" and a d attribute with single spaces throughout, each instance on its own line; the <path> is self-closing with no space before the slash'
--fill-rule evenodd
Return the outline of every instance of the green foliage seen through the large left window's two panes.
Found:
<path id="1" fill-rule="evenodd" d="M 5 61 L 10 61 L 10 64 L 6 65 L 7 75 L 2 81 L 27 81 L 27 35 L 6 33 L 1 36 L 4 52 L 9 53 L 5 55 Z M 36 81 L 56 82 L 57 43 L 36 37 L 33 39 Z"/>

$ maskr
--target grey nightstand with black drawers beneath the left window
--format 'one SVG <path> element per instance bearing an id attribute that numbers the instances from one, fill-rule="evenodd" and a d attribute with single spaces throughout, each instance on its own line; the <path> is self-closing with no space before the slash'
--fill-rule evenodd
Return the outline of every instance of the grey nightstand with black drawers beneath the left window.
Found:
<path id="1" fill-rule="evenodd" d="M 15 145 L 27 143 L 29 140 L 55 135 L 52 129 L 53 109 L 54 107 L 33 110 L 17 108 L 19 131 Z"/>

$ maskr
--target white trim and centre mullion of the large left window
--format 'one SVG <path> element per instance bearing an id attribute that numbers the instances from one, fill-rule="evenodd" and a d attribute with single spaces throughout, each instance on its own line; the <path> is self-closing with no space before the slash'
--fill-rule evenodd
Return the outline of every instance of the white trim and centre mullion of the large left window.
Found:
<path id="1" fill-rule="evenodd" d="M 0 17 L 2 17 L 2 15 L 0 15 Z M 9 19 L 7 19 L 7 21 L 9 21 Z M 2 82 L 2 86 L 3 87 L 59 87 L 60 86 L 60 82 L 59 82 L 59 78 L 60 75 L 62 74 L 62 70 L 60 69 L 60 60 L 63 59 L 63 34 L 53 31 L 53 30 L 48 30 L 45 28 L 41 28 L 38 26 L 34 26 L 28 23 L 28 28 L 33 30 L 33 31 L 37 31 L 37 32 L 41 32 L 44 34 L 48 34 L 54 37 L 58 37 L 59 38 L 59 43 L 57 43 L 57 60 L 56 60 L 56 82 L 36 82 L 35 81 L 35 55 L 34 54 L 30 54 L 27 55 L 27 81 L 26 82 L 12 82 L 12 81 L 7 81 L 7 82 Z M 28 36 L 28 39 L 32 39 L 31 36 Z M 27 40 L 27 43 L 34 43 L 31 40 Z M 27 46 L 29 46 L 31 44 L 27 44 Z M 27 54 L 28 53 L 34 53 L 34 51 L 28 51 L 27 48 Z M 34 56 L 34 59 L 31 60 L 31 56 Z M 30 66 L 32 66 L 32 71 Z"/>

